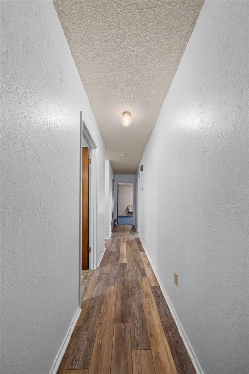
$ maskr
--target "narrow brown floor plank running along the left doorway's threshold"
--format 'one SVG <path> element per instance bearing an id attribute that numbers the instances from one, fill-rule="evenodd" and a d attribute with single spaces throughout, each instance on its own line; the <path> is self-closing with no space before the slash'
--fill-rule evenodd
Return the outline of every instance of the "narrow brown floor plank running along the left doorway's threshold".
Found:
<path id="1" fill-rule="evenodd" d="M 83 319 L 87 312 L 89 302 L 93 294 L 99 273 L 100 273 L 100 269 L 90 270 L 86 278 L 86 281 L 83 283 L 82 297 L 81 297 L 81 313 L 77 320 L 76 326 L 82 326 Z"/>

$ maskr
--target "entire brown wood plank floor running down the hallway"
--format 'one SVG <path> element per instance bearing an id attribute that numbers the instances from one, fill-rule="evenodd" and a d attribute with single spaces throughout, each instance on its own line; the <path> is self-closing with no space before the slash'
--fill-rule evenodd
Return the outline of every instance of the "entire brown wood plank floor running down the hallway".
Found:
<path id="1" fill-rule="evenodd" d="M 196 374 L 134 227 L 105 246 L 57 374 Z"/>

